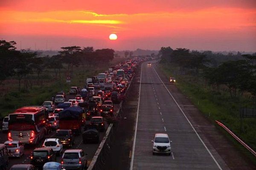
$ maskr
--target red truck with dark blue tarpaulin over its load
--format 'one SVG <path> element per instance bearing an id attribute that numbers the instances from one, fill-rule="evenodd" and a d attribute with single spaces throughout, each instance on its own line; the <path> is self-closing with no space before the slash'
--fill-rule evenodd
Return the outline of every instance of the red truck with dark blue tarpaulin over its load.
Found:
<path id="1" fill-rule="evenodd" d="M 79 107 L 65 108 L 59 113 L 59 129 L 71 129 L 74 133 L 81 132 L 84 110 Z"/>

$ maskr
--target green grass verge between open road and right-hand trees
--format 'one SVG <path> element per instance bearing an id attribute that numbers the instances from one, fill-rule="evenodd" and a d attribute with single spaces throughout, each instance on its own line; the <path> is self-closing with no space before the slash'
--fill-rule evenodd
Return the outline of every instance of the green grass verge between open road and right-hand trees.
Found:
<path id="1" fill-rule="evenodd" d="M 248 144 L 253 150 L 256 150 L 256 119 L 244 118 L 243 130 L 240 130 L 240 107 L 255 107 L 253 99 L 246 99 L 239 96 L 237 99 L 230 98 L 227 91 L 212 91 L 205 86 L 202 79 L 195 80 L 195 77 L 178 74 L 177 68 L 169 67 L 166 64 L 160 64 L 160 69 L 167 76 L 172 75 L 176 78 L 176 87 L 190 98 L 192 103 L 204 114 L 210 121 L 216 125 L 215 120 L 222 122 L 233 131 L 240 139 Z M 217 126 L 217 125 L 216 125 Z M 218 126 L 217 126 L 218 127 Z M 218 127 L 221 129 L 222 127 Z M 254 163 L 255 157 L 239 144 L 229 133 L 221 131 L 235 144 L 241 152 L 245 153 Z"/>

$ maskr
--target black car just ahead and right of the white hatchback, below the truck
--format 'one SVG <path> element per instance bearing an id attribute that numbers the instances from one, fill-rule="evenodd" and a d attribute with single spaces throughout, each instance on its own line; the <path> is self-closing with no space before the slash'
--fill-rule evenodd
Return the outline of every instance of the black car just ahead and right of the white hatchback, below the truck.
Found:
<path id="1" fill-rule="evenodd" d="M 63 146 L 72 147 L 75 144 L 75 136 L 71 129 L 56 130 L 55 138 L 60 139 Z"/>

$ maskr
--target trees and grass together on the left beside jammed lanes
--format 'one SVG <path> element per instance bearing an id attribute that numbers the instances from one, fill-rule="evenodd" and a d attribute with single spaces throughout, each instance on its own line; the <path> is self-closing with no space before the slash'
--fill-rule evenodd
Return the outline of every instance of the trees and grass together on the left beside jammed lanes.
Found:
<path id="1" fill-rule="evenodd" d="M 15 44 L 0 40 L 1 117 L 25 105 L 42 105 L 58 91 L 68 92 L 70 86 L 83 88 L 86 78 L 123 60 L 114 59 L 112 49 L 79 46 L 63 47 L 52 57 L 38 57 L 34 51 L 17 51 Z"/>

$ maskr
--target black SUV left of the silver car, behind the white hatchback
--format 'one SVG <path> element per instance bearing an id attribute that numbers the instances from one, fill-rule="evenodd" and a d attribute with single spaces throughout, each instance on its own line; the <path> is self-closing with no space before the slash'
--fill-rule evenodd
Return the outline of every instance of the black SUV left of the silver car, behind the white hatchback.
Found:
<path id="1" fill-rule="evenodd" d="M 35 148 L 30 156 L 30 164 L 38 168 L 42 168 L 45 163 L 52 161 L 56 161 L 56 155 L 49 147 Z"/>

